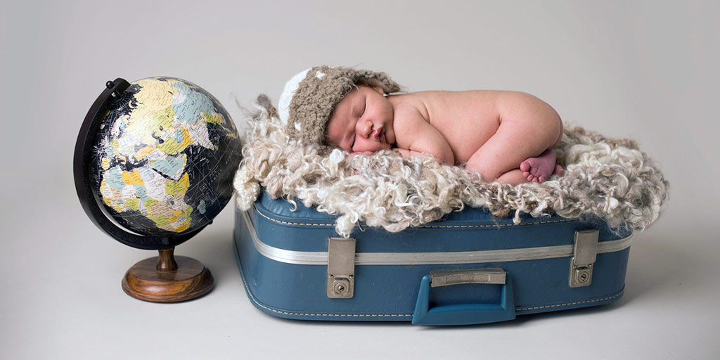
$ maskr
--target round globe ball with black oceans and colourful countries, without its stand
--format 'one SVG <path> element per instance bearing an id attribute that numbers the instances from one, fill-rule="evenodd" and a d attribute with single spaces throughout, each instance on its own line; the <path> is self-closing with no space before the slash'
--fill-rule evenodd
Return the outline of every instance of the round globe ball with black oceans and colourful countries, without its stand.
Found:
<path id="1" fill-rule="evenodd" d="M 91 161 L 95 196 L 135 233 L 207 225 L 233 195 L 240 138 L 220 102 L 179 78 L 130 84 L 102 116 Z"/>

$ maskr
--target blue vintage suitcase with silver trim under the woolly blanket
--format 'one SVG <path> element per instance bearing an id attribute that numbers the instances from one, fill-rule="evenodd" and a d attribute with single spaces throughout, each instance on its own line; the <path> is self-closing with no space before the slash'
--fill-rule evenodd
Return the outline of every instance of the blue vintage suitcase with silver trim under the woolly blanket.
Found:
<path id="1" fill-rule="evenodd" d="M 294 211 L 293 211 L 294 210 Z M 624 290 L 631 232 L 600 220 L 467 208 L 400 233 L 360 227 L 263 193 L 235 211 L 250 301 L 281 318 L 466 325 L 603 305 Z"/>

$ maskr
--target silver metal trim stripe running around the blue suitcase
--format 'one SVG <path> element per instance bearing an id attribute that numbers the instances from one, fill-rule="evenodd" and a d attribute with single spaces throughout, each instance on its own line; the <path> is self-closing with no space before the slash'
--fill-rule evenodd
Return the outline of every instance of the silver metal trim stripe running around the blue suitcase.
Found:
<path id="1" fill-rule="evenodd" d="M 258 253 L 266 258 L 286 264 L 328 265 L 328 253 L 323 251 L 292 251 L 275 248 L 258 239 L 248 212 L 243 211 L 243 220 L 253 238 Z M 618 240 L 601 241 L 598 253 L 612 253 L 630 247 L 633 235 Z M 449 251 L 444 253 L 356 253 L 356 265 L 442 265 L 482 264 L 505 261 L 539 260 L 572 256 L 574 246 L 543 246 L 539 248 L 510 248 L 486 251 Z"/>

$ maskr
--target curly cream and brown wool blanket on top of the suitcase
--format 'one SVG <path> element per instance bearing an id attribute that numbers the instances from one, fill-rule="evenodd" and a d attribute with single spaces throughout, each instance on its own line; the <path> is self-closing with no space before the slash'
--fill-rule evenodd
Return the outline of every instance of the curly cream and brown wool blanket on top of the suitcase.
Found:
<path id="1" fill-rule="evenodd" d="M 271 197 L 299 199 L 319 212 L 339 215 L 338 234 L 349 237 L 359 222 L 397 232 L 440 220 L 465 206 L 492 215 L 599 217 L 611 228 L 643 230 L 660 215 L 669 184 L 633 140 L 604 138 L 565 125 L 555 148 L 563 176 L 541 184 L 487 183 L 462 166 L 431 157 L 405 159 L 383 150 L 350 155 L 289 140 L 271 107 L 248 119 L 243 160 L 235 174 L 236 204 L 248 210 L 261 186 Z M 268 111 L 270 109 L 270 111 Z M 514 214 L 513 214 L 514 212 Z"/>

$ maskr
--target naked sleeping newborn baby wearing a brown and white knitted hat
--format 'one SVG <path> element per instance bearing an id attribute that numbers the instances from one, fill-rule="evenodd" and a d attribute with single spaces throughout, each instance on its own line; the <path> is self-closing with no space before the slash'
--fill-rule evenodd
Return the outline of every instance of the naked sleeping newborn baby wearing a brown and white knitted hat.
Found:
<path id="1" fill-rule="evenodd" d="M 520 184 L 562 176 L 552 150 L 562 120 L 516 91 L 421 91 L 385 73 L 317 66 L 288 81 L 279 115 L 292 138 L 351 153 L 395 150 L 465 165 L 482 180 Z"/>

